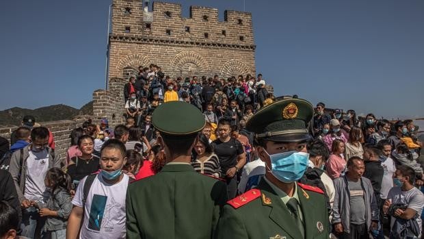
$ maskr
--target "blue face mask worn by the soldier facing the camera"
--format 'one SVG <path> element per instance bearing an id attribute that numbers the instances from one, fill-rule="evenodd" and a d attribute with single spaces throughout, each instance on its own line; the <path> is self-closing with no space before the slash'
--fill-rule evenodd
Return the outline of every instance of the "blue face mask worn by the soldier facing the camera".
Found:
<path id="1" fill-rule="evenodd" d="M 304 175 L 308 167 L 309 153 L 289 151 L 271 154 L 269 158 L 271 174 L 288 184 L 299 180 Z"/>

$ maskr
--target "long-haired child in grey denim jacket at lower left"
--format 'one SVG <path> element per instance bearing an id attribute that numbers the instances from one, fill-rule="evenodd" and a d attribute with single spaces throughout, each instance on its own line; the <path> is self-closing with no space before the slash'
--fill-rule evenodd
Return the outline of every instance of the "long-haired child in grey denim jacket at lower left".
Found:
<path id="1" fill-rule="evenodd" d="M 31 203 L 38 208 L 40 216 L 47 218 L 42 229 L 42 238 L 66 238 L 66 225 L 72 210 L 70 177 L 60 168 L 51 168 L 47 172 L 44 184 L 50 191 L 47 203 L 34 201 Z"/>

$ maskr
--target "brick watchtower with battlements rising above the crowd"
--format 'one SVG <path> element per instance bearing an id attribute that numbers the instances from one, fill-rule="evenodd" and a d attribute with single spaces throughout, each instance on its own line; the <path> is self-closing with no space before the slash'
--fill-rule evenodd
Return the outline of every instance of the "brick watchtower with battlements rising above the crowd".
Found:
<path id="1" fill-rule="evenodd" d="M 113 0 L 109 36 L 109 80 L 127 78 L 138 66 L 158 64 L 171 77 L 254 75 L 252 14 L 153 3 L 148 12 L 141 0 Z"/>

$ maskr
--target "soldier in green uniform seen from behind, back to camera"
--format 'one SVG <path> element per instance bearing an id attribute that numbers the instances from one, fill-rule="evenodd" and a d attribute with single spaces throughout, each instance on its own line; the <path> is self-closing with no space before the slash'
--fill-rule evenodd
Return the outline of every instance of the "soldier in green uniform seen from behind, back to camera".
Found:
<path id="1" fill-rule="evenodd" d="M 168 162 L 157 175 L 127 191 L 127 238 L 213 238 L 226 184 L 191 166 L 191 149 L 204 116 L 189 103 L 171 101 L 153 112 Z"/>

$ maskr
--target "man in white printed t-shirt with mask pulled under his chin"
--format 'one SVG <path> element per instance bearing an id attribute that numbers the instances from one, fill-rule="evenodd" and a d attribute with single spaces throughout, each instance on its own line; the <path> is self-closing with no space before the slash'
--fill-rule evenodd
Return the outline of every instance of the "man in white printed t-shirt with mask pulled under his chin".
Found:
<path id="1" fill-rule="evenodd" d="M 116 139 L 107 140 L 101 150 L 101 172 L 81 180 L 70 213 L 66 238 L 125 238 L 125 196 L 129 177 L 122 173 L 127 162 L 125 146 Z M 94 177 L 84 199 L 84 184 Z M 83 225 L 80 225 L 81 221 Z"/>

